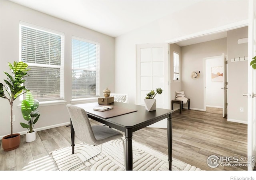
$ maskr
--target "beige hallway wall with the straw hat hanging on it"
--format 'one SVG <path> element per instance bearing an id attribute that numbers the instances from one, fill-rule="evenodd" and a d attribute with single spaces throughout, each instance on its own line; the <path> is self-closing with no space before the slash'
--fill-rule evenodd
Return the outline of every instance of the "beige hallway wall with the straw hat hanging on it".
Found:
<path id="1" fill-rule="evenodd" d="M 221 56 L 222 53 L 227 53 L 227 38 L 181 48 L 182 89 L 186 97 L 190 98 L 191 109 L 204 110 L 204 58 Z M 200 77 L 192 79 L 193 71 L 200 71 Z"/>

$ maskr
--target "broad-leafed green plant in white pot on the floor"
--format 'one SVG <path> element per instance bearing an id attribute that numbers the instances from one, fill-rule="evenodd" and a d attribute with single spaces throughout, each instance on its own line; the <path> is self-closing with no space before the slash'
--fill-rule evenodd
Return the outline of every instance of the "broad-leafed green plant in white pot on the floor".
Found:
<path id="1" fill-rule="evenodd" d="M 36 131 L 33 128 L 40 117 L 38 107 L 39 101 L 34 99 L 31 92 L 27 92 L 26 98 L 21 102 L 21 113 L 24 120 L 28 121 L 28 124 L 20 122 L 22 128 L 28 129 L 28 132 L 26 132 L 26 142 L 36 140 Z"/>

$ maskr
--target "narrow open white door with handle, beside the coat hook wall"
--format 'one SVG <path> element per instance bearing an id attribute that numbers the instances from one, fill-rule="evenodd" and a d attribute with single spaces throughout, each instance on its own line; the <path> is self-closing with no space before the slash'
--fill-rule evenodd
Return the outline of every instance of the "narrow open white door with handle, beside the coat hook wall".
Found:
<path id="1" fill-rule="evenodd" d="M 224 53 L 222 53 L 222 62 L 223 62 L 223 118 L 227 115 L 228 112 L 228 101 L 227 101 L 227 95 L 228 95 L 228 81 L 227 81 L 227 58 Z"/>

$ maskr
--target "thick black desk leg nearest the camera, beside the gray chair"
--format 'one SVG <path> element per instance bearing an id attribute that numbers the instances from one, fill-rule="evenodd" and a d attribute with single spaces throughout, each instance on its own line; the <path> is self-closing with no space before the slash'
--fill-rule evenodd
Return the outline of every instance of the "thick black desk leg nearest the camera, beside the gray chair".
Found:
<path id="1" fill-rule="evenodd" d="M 132 170 L 132 130 L 125 129 L 125 167 L 126 170 Z"/>

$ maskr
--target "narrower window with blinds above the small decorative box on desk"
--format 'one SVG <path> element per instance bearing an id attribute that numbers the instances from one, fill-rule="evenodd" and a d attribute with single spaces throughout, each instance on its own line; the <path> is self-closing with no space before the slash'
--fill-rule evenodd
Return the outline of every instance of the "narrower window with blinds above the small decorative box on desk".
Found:
<path id="1" fill-rule="evenodd" d="M 99 96 L 100 44 L 72 38 L 72 99 Z"/>

